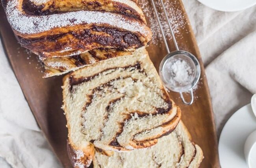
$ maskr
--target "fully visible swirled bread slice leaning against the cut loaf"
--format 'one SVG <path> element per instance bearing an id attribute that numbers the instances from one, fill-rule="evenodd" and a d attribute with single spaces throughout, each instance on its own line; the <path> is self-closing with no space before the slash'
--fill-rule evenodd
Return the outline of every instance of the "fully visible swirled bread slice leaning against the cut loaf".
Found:
<path id="1" fill-rule="evenodd" d="M 180 120 L 180 109 L 145 49 L 78 69 L 63 80 L 63 109 L 74 150 L 83 151 L 88 142 L 116 152 L 148 148 Z"/>

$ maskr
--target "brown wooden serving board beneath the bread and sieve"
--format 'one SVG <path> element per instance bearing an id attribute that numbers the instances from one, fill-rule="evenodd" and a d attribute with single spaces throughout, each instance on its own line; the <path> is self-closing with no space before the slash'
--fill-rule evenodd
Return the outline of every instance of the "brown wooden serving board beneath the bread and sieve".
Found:
<path id="1" fill-rule="evenodd" d="M 147 47 L 147 50 L 154 65 L 158 69 L 162 58 L 167 52 L 159 36 L 159 26 L 154 19 L 149 0 L 139 3 L 154 33 L 153 40 Z M 189 51 L 195 55 L 201 65 L 201 77 L 197 89 L 194 90 L 195 102 L 191 106 L 184 105 L 178 93 L 170 92 L 170 95 L 178 106 L 180 106 L 182 110 L 182 120 L 191 133 L 193 141 L 197 143 L 204 152 L 204 160 L 200 167 L 217 168 L 220 167 L 217 151 L 217 136 L 210 94 L 197 42 L 181 0 L 168 0 L 165 2 L 165 5 L 167 11 L 169 11 L 171 24 L 174 27 L 174 33 L 180 49 Z M 161 13 L 161 9 L 158 10 Z M 13 71 L 38 125 L 63 166 L 71 167 L 66 152 L 66 119 L 63 115 L 63 110 L 61 110 L 61 85 L 63 76 L 48 79 L 42 78 L 43 68 L 38 62 L 37 57 L 29 53 L 28 50 L 20 47 L 17 43 L 2 7 L 0 7 L 0 35 L 6 55 L 9 58 Z M 169 35 L 168 32 L 167 35 Z M 169 39 L 169 46 L 171 50 L 174 50 L 171 39 Z"/>

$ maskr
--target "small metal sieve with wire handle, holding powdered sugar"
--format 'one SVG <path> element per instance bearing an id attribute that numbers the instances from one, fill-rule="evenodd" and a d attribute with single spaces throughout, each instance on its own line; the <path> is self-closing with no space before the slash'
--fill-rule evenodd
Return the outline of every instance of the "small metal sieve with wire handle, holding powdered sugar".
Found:
<path id="1" fill-rule="evenodd" d="M 176 38 L 174 36 L 173 29 L 169 21 L 169 17 L 165 10 L 165 5 L 163 4 L 163 0 L 160 0 L 160 2 L 163 7 L 163 12 L 165 14 L 165 17 L 167 19 L 169 29 L 171 30 L 171 36 L 172 36 L 176 51 L 170 52 L 169 46 L 167 44 L 167 40 L 165 38 L 165 33 L 163 31 L 160 18 L 158 16 L 158 12 L 156 10 L 156 5 L 154 3 L 154 0 L 151 0 L 152 6 L 154 8 L 154 12 L 156 14 L 156 18 L 158 20 L 158 24 L 160 26 L 160 31 L 163 36 L 163 42 L 167 50 L 167 55 L 163 58 L 163 60 L 160 63 L 159 74 L 166 88 L 170 89 L 171 91 L 180 93 L 182 102 L 184 104 L 191 105 L 194 101 L 193 87 L 197 84 L 200 78 L 200 73 L 201 73 L 200 64 L 197 58 L 193 54 L 189 53 L 188 51 L 182 51 L 179 49 Z M 177 77 L 177 74 L 176 74 L 177 71 L 173 71 L 171 69 L 171 67 L 174 67 L 174 69 L 178 69 L 180 68 L 179 66 L 181 65 L 184 66 L 185 68 L 183 69 L 185 72 L 184 75 L 182 74 L 179 75 L 180 80 L 184 81 L 182 83 L 180 83 L 179 80 L 175 79 Z M 187 77 L 187 79 L 186 80 L 182 79 L 182 77 Z M 189 102 L 187 102 L 183 96 L 183 93 L 187 91 L 189 91 L 189 94 L 190 94 Z"/>

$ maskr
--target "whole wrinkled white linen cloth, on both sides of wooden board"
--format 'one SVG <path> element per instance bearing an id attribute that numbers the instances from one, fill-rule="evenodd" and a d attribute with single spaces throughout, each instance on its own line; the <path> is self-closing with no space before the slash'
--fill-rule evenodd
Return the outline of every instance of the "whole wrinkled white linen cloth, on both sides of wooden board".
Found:
<path id="1" fill-rule="evenodd" d="M 256 6 L 225 13 L 197 0 L 183 3 L 206 68 L 219 135 L 227 119 L 256 93 Z M 0 167 L 61 167 L 35 122 L 1 43 L 0 71 Z"/>

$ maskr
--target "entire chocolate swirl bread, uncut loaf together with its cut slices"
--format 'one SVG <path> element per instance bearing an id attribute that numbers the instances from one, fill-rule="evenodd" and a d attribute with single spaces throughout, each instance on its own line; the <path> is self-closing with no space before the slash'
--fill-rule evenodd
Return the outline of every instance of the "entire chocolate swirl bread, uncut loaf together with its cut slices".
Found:
<path id="1" fill-rule="evenodd" d="M 74 167 L 198 167 L 202 150 L 180 121 L 145 50 L 137 0 L 2 0 L 19 43 L 44 77 L 63 79 Z"/>

